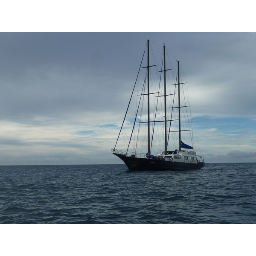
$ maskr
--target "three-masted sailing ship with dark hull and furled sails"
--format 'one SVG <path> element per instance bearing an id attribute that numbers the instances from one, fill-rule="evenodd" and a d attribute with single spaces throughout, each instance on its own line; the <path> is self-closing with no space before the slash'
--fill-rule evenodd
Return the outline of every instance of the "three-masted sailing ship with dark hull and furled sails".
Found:
<path id="1" fill-rule="evenodd" d="M 186 129 L 182 127 L 185 123 L 181 120 L 181 111 L 189 108 L 189 105 L 186 105 L 186 103 L 185 105 L 181 104 L 181 91 L 183 91 L 181 87 L 186 84 L 186 82 L 180 81 L 180 62 L 176 61 L 177 73 L 173 73 L 173 83 L 171 82 L 168 87 L 168 71 L 173 70 L 173 68 L 166 69 L 166 46 L 163 44 L 163 54 L 159 62 L 160 65 L 150 65 L 149 46 L 148 40 L 116 145 L 111 150 L 114 155 L 125 163 L 130 171 L 185 171 L 201 169 L 204 167 L 204 157 L 197 154 L 194 151 L 194 147 L 182 141 L 183 137 L 181 134 L 189 132 L 191 135 L 192 128 Z M 146 66 L 142 67 L 146 49 L 147 62 Z M 152 89 L 151 80 L 156 81 L 156 79 L 151 79 L 151 68 L 156 68 L 156 66 L 160 66 L 160 71 L 156 70 L 155 72 L 158 74 L 158 80 L 155 82 L 157 86 Z M 137 86 L 141 70 L 145 70 L 145 75 L 142 79 L 143 82 Z M 137 89 L 137 95 L 135 94 L 136 86 L 139 88 Z M 136 103 L 132 103 L 134 95 Z M 160 103 L 162 99 L 163 103 Z M 135 118 L 133 122 L 131 122 L 131 116 L 129 116 L 128 110 L 133 105 L 136 105 L 136 111 Z M 143 105 L 146 105 L 146 112 L 143 111 Z M 177 117 L 175 117 L 175 111 Z M 183 112 L 187 113 L 188 111 Z M 191 120 L 192 117 L 190 117 L 190 121 Z M 173 126 L 174 129 L 172 128 Z M 125 131 L 125 128 L 126 130 L 130 130 L 130 135 Z M 141 131 L 146 131 L 146 135 L 143 136 L 140 133 Z M 157 133 L 159 131 L 160 134 Z M 173 136 L 173 134 L 178 134 L 178 136 L 176 136 L 177 142 L 174 141 L 175 136 Z M 122 140 L 128 140 L 128 142 L 121 143 L 122 148 L 126 146 L 125 150 L 116 148 L 121 138 Z M 141 139 L 144 143 L 140 142 Z M 191 140 L 191 143 L 194 143 L 193 140 Z M 168 149 L 169 144 L 172 144 L 174 147 L 173 150 Z"/>

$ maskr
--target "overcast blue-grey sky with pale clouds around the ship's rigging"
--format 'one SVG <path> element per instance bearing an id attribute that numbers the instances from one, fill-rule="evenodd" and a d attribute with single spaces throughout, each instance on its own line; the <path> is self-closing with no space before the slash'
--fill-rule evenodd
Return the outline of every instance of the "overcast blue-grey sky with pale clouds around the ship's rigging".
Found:
<path id="1" fill-rule="evenodd" d="M 182 63 L 207 163 L 256 161 L 256 33 L 0 33 L 0 165 L 111 164 L 149 39 Z"/>

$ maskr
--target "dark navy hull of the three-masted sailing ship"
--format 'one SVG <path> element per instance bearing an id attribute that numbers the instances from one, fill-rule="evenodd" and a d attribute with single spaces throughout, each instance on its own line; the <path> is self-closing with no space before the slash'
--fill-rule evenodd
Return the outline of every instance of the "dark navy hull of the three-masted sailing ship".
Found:
<path id="1" fill-rule="evenodd" d="M 186 171 L 197 170 L 204 167 L 204 162 L 180 163 L 164 160 L 152 160 L 148 158 L 127 157 L 126 155 L 116 154 L 124 161 L 130 171 Z"/>

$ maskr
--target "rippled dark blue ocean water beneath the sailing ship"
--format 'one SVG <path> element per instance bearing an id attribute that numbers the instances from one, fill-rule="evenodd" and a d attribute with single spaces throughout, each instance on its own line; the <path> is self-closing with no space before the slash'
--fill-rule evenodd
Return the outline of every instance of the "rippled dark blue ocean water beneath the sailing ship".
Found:
<path id="1" fill-rule="evenodd" d="M 0 224 L 256 224 L 256 163 L 0 166 Z"/>

